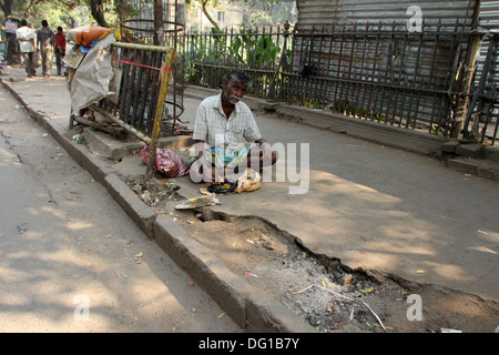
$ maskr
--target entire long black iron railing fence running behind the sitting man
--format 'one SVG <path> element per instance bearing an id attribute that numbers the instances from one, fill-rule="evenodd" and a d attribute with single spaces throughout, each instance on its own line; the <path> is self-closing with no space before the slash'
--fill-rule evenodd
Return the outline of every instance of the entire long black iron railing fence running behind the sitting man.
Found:
<path id="1" fill-rule="evenodd" d="M 477 132 L 479 125 L 477 139 L 493 144 L 497 37 L 491 36 L 487 65 L 479 68 L 482 83 L 466 85 L 471 49 L 483 34 L 459 22 L 422 24 L 419 32 L 381 23 L 312 31 L 241 28 L 183 32 L 177 53 L 186 81 L 196 85 L 220 88 L 228 70 L 243 68 L 253 78 L 248 95 L 442 136 Z M 464 101 L 467 113 L 459 111 Z"/>

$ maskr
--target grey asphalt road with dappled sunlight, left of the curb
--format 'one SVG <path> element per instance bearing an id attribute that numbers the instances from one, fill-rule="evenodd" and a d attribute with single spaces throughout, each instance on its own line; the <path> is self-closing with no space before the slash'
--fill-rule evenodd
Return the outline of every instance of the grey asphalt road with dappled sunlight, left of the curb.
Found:
<path id="1" fill-rule="evenodd" d="M 0 332 L 241 332 L 2 85 L 0 106 Z"/>

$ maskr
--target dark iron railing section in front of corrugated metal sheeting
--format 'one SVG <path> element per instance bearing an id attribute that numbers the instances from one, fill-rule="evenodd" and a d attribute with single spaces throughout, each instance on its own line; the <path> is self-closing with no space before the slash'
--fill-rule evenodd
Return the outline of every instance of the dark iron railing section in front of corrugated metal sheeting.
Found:
<path id="1" fill-rule="evenodd" d="M 458 65 L 470 34 L 381 26 L 294 33 L 286 90 L 299 104 L 404 128 L 448 134 Z M 312 93 L 312 94 L 310 94 Z"/>

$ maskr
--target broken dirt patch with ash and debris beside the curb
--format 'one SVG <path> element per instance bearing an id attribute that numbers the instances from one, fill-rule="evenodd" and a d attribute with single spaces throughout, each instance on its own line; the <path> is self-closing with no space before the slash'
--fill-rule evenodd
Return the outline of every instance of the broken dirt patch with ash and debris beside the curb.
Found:
<path id="1" fill-rule="evenodd" d="M 180 191 L 165 185 L 167 180 L 125 181 L 139 195 L 147 191 L 150 202 L 157 199 L 157 213 L 169 213 L 233 273 L 320 332 L 491 333 L 499 324 L 496 302 L 376 271 L 350 270 L 337 260 L 314 255 L 296 237 L 259 217 L 210 207 L 167 211 L 165 201 L 183 200 Z"/>

